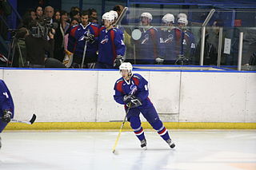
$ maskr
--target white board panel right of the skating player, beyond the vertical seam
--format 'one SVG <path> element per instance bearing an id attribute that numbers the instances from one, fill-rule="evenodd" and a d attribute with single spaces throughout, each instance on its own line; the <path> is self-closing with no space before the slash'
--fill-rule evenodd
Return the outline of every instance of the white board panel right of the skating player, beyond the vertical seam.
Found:
<path id="1" fill-rule="evenodd" d="M 245 122 L 246 74 L 183 72 L 179 121 Z"/>

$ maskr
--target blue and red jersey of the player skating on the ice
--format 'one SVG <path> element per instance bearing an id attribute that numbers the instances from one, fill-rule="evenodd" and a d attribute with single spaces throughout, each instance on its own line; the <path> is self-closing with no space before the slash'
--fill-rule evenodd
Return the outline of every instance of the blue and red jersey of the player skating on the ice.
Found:
<path id="1" fill-rule="evenodd" d="M 131 93 L 131 89 L 134 89 L 136 85 L 137 90 L 134 92 L 134 96 L 138 97 L 142 101 L 142 105 L 138 108 L 150 108 L 153 104 L 150 101 L 148 82 L 138 73 L 134 73 L 129 81 L 124 80 L 122 77 L 114 84 L 114 100 L 121 105 L 125 105 L 123 97 Z"/>

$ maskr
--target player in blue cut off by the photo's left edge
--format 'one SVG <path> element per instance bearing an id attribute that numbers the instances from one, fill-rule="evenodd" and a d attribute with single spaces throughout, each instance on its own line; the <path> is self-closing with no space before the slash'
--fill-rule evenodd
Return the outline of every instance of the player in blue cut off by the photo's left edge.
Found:
<path id="1" fill-rule="evenodd" d="M 14 101 L 4 81 L 0 79 L 0 133 L 10 120 L 14 118 Z M 1 137 L 0 137 L 0 148 Z"/>

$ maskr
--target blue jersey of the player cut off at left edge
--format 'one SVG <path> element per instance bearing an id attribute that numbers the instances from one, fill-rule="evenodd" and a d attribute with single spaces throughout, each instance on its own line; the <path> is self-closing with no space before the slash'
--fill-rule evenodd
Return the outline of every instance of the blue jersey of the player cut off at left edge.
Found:
<path id="1" fill-rule="evenodd" d="M 10 91 L 7 88 L 4 81 L 0 80 L 0 117 L 3 116 L 3 111 L 9 110 L 14 117 L 14 101 L 10 95 Z"/>

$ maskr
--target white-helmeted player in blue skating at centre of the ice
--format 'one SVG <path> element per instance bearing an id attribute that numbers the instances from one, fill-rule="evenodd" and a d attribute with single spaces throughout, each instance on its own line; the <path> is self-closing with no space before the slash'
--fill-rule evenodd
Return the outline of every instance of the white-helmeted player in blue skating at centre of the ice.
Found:
<path id="1" fill-rule="evenodd" d="M 167 129 L 159 119 L 158 113 L 148 97 L 147 81 L 140 74 L 133 74 L 132 69 L 130 62 L 124 62 L 120 65 L 119 70 L 122 77 L 114 85 L 114 100 L 119 104 L 125 105 L 126 110 L 128 106 L 130 107 L 129 113 L 127 113 L 127 120 L 130 122 L 130 127 L 134 129 L 135 135 L 141 141 L 142 148 L 146 149 L 146 138 L 139 118 L 140 113 L 162 136 L 162 139 L 166 140 L 170 148 L 174 148 L 174 142 L 170 139 Z"/>

